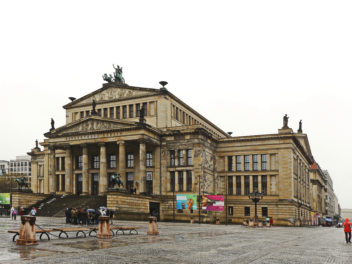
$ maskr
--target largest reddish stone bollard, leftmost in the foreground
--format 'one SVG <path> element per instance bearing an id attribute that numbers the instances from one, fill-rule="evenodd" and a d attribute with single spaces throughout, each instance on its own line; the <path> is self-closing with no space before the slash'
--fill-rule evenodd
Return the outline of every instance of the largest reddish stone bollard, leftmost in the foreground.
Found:
<path id="1" fill-rule="evenodd" d="M 36 217 L 31 215 L 21 215 L 21 227 L 17 245 L 36 245 Z"/>

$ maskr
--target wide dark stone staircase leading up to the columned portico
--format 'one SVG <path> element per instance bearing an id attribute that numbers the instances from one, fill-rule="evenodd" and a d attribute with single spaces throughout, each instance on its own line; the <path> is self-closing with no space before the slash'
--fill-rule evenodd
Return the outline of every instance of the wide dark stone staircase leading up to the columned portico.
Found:
<path id="1" fill-rule="evenodd" d="M 65 211 L 70 207 L 96 209 L 106 207 L 106 204 L 106 195 L 53 195 L 33 207 L 38 209 L 37 216 L 65 217 Z"/>

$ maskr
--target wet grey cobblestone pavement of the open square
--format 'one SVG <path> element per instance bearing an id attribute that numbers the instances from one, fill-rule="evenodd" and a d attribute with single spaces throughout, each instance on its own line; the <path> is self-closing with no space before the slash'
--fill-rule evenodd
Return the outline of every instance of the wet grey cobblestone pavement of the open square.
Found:
<path id="1" fill-rule="evenodd" d="M 159 222 L 159 235 L 147 235 L 147 222 L 114 221 L 113 226 L 136 226 L 138 234 L 39 239 L 31 246 L 16 245 L 20 221 L 0 218 L 1 263 L 177 263 L 177 264 L 312 264 L 352 263 L 352 244 L 342 228 L 274 227 Z M 77 227 L 64 218 L 37 217 L 44 229 Z M 93 225 L 92 225 L 93 227 Z M 16 237 L 18 238 L 18 236 Z"/>

